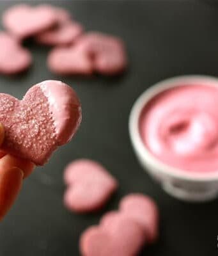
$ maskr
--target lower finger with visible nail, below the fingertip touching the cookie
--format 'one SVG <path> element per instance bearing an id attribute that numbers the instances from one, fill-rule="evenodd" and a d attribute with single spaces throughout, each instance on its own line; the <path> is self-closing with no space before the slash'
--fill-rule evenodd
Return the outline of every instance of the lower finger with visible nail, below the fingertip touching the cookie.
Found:
<path id="1" fill-rule="evenodd" d="M 19 168 L 0 169 L 0 220 L 10 209 L 22 186 L 23 173 Z"/>

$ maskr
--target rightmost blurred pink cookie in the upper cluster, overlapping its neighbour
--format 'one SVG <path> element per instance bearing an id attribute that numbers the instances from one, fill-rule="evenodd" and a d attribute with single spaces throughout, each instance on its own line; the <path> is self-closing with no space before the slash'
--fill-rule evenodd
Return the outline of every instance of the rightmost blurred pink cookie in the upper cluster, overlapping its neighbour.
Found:
<path id="1" fill-rule="evenodd" d="M 114 75 L 127 67 L 125 47 L 120 38 L 90 32 L 82 36 L 78 44 L 90 56 L 95 72 Z"/>

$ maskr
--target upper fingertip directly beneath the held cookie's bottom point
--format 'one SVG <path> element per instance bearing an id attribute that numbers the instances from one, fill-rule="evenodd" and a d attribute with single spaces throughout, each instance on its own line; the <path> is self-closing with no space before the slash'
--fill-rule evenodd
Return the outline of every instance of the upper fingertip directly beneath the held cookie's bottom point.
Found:
<path id="1" fill-rule="evenodd" d="M 31 172 L 33 172 L 34 164 L 26 159 L 22 159 L 19 157 L 12 156 L 7 154 L 0 159 L 0 171 L 1 170 L 9 170 L 13 167 L 20 168 L 24 173 L 24 178 L 29 176 Z"/>

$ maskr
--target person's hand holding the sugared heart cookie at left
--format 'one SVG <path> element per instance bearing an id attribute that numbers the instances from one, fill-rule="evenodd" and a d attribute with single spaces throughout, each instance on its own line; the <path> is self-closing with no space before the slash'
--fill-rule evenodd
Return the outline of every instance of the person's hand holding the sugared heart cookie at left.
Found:
<path id="1" fill-rule="evenodd" d="M 0 123 L 0 148 L 4 141 L 4 127 Z M 26 159 L 7 154 L 0 149 L 0 221 L 9 211 L 25 179 L 34 169 Z"/>

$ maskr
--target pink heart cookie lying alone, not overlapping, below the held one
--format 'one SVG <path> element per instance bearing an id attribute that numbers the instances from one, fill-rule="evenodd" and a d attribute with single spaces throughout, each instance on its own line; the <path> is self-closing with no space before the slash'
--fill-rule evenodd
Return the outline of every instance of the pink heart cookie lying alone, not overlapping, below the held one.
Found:
<path id="1" fill-rule="evenodd" d="M 64 173 L 68 184 L 64 202 L 75 212 L 91 212 L 103 207 L 118 187 L 118 182 L 105 168 L 88 159 L 69 164 Z"/>

